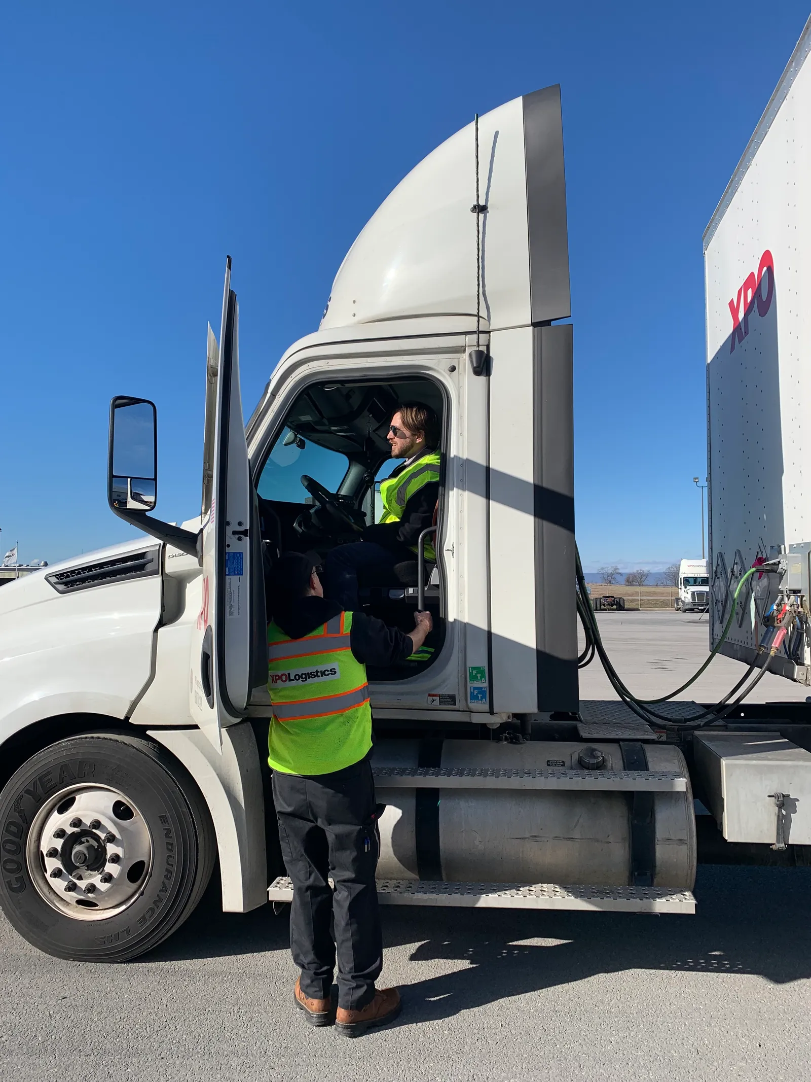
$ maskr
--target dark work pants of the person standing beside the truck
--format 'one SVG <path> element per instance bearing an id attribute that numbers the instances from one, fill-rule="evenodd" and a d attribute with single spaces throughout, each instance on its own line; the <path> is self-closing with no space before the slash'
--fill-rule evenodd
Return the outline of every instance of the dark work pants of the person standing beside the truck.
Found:
<path id="1" fill-rule="evenodd" d="M 334 774 L 274 770 L 272 783 L 281 852 L 293 881 L 290 948 L 302 991 L 329 999 L 337 954 L 338 1006 L 357 1011 L 374 997 L 383 968 L 372 767 L 362 758 Z"/>

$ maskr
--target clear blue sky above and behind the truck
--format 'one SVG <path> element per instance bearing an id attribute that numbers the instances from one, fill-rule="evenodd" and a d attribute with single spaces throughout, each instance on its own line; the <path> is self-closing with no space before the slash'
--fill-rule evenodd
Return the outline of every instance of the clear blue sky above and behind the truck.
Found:
<path id="1" fill-rule="evenodd" d="M 806 3 L 17 4 L 0 40 L 0 555 L 122 540 L 114 394 L 152 398 L 159 504 L 199 506 L 225 254 L 245 417 L 438 143 L 560 82 L 586 568 L 701 549 L 701 237 Z"/>

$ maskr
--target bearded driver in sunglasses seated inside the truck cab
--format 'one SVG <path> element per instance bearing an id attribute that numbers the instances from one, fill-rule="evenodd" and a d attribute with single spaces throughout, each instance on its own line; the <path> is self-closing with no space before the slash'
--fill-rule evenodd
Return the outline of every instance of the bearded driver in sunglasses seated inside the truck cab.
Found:
<path id="1" fill-rule="evenodd" d="M 395 583 L 395 565 L 414 559 L 417 540 L 434 524 L 439 499 L 439 422 L 422 403 L 403 403 L 391 418 L 388 441 L 393 459 L 406 459 L 381 481 L 383 514 L 367 526 L 363 539 L 338 545 L 327 556 L 327 593 L 346 609 L 358 608 L 358 578 L 364 572 Z M 436 560 L 430 537 L 425 558 Z"/>

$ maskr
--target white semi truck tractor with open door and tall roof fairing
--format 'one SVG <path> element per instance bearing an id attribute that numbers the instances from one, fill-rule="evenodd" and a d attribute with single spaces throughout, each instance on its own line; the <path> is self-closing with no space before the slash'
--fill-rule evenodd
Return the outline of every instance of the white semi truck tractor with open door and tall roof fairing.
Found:
<path id="1" fill-rule="evenodd" d="M 395 188 L 247 426 L 229 264 L 199 517 L 154 516 L 156 410 L 116 398 L 108 499 L 144 536 L 0 592 L 0 903 L 23 936 L 134 958 L 191 912 L 217 858 L 225 910 L 290 898 L 264 569 L 357 538 L 407 398 L 441 418 L 443 466 L 436 560 L 421 547 L 361 592 L 389 623 L 413 625 L 415 606 L 435 622 L 427 660 L 369 672 L 381 899 L 692 912 L 699 859 L 802 859 L 811 754 L 783 722 L 753 739 L 694 703 L 580 700 L 579 664 L 604 651 L 582 575 L 575 590 L 569 315 L 557 87 Z"/>

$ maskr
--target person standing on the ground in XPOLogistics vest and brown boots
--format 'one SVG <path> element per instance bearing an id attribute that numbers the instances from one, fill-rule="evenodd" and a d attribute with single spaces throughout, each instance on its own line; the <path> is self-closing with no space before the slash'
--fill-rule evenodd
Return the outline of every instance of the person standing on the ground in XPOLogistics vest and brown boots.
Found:
<path id="1" fill-rule="evenodd" d="M 415 612 L 416 626 L 406 635 L 345 611 L 324 598 L 318 569 L 301 553 L 281 556 L 269 579 L 268 762 L 293 881 L 290 947 L 301 969 L 293 994 L 311 1025 L 335 1022 L 347 1037 L 360 1037 L 400 1011 L 396 988 L 374 986 L 383 968 L 374 881 L 383 808 L 370 765 L 365 667 L 396 664 L 418 650 L 431 618 Z M 336 960 L 337 1008 L 331 994 Z"/>

